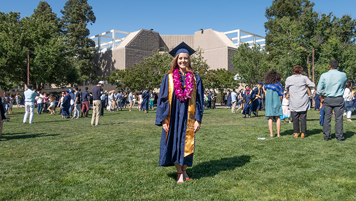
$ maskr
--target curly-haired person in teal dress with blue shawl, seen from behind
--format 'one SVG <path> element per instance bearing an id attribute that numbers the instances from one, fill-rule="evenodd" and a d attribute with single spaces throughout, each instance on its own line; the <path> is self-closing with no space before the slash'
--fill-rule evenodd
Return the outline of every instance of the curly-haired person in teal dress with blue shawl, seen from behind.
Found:
<path id="1" fill-rule="evenodd" d="M 270 71 L 264 76 L 264 90 L 266 91 L 265 98 L 265 117 L 269 117 L 268 127 L 270 129 L 271 137 L 273 135 L 273 118 L 277 121 L 277 137 L 281 136 L 281 116 L 283 87 L 280 83 L 281 74 L 276 71 Z"/>

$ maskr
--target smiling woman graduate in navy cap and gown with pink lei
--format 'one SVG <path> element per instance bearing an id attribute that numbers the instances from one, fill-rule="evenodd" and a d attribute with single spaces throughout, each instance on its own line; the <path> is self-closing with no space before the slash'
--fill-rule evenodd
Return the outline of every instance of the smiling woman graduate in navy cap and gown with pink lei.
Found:
<path id="1" fill-rule="evenodd" d="M 156 125 L 163 127 L 159 166 L 174 165 L 177 183 L 189 180 L 186 168 L 193 164 L 195 133 L 203 116 L 203 85 L 191 67 L 194 52 L 184 42 L 169 52 L 174 59 L 157 101 Z"/>

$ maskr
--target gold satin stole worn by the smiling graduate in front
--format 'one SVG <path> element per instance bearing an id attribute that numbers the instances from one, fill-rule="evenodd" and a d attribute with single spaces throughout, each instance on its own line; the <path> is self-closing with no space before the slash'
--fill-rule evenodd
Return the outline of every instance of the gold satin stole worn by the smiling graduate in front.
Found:
<path id="1" fill-rule="evenodd" d="M 192 154 L 194 152 L 194 140 L 195 140 L 195 133 L 194 133 L 194 124 L 195 124 L 195 108 L 196 108 L 196 79 L 194 77 L 194 89 L 192 94 L 190 95 L 189 99 L 189 106 L 188 106 L 188 123 L 187 123 L 187 131 L 186 131 L 186 143 L 184 148 L 184 157 Z M 168 81 L 169 81 L 169 90 L 168 90 L 168 102 L 169 102 L 169 113 L 167 120 L 170 122 L 170 108 L 172 103 L 172 94 L 174 91 L 174 84 L 173 84 L 173 73 L 168 74 Z M 177 100 L 179 101 L 179 100 Z M 168 124 L 169 125 L 169 124 Z M 170 128 L 172 129 L 172 128 Z M 166 136 L 166 140 L 168 138 L 168 133 Z"/>

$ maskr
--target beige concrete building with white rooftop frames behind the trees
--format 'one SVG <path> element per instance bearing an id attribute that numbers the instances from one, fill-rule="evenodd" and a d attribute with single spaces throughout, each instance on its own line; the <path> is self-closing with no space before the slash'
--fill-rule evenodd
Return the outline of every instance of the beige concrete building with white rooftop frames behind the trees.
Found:
<path id="1" fill-rule="evenodd" d="M 237 37 L 230 37 L 233 34 L 237 34 Z M 118 38 L 118 35 L 125 37 Z M 247 38 L 253 38 L 253 40 L 243 41 Z M 93 36 L 91 39 L 99 47 L 93 63 L 101 68 L 98 75 L 102 80 L 105 80 L 105 76 L 109 76 L 115 69 L 125 69 L 138 64 L 143 61 L 143 58 L 152 56 L 153 51 L 163 50 L 165 47 L 169 51 L 182 41 L 193 49 L 203 49 L 203 57 L 210 69 L 223 68 L 234 71 L 231 56 L 238 46 L 241 43 L 253 45 L 264 41 L 264 37 L 242 30 L 218 32 L 212 29 L 200 30 L 194 35 L 160 35 L 153 30 L 143 29 L 132 33 L 111 30 Z"/>

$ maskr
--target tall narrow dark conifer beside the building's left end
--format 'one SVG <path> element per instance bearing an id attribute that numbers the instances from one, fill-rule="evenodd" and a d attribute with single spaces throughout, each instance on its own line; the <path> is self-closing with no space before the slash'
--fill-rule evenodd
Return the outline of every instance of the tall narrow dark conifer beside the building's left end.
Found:
<path id="1" fill-rule="evenodd" d="M 63 32 L 70 44 L 73 65 L 80 75 L 79 83 L 97 80 L 99 77 L 96 70 L 99 70 L 99 67 L 91 64 L 97 48 L 95 42 L 88 38 L 90 31 L 86 28 L 88 23 L 93 24 L 96 20 L 92 7 L 86 0 L 68 0 L 61 13 Z"/>

